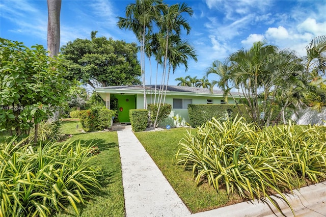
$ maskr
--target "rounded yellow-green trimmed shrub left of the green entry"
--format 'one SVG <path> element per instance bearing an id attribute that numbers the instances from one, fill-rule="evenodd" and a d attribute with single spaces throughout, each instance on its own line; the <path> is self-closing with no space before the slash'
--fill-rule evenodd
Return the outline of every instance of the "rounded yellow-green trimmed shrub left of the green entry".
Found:
<path id="1" fill-rule="evenodd" d="M 84 131 L 99 131 L 111 127 L 112 116 L 115 112 L 106 107 L 92 107 L 90 110 L 79 112 L 79 121 Z"/>

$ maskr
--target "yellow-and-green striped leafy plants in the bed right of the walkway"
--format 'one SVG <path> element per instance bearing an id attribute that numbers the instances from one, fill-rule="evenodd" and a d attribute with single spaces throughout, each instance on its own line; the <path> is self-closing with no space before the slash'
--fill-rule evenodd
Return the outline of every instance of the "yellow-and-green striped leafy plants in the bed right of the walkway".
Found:
<path id="1" fill-rule="evenodd" d="M 260 129 L 242 118 L 213 118 L 179 145 L 177 163 L 192 170 L 196 185 L 207 180 L 228 197 L 269 199 L 278 193 L 288 203 L 284 192 L 326 178 L 325 127 L 289 122 Z"/>

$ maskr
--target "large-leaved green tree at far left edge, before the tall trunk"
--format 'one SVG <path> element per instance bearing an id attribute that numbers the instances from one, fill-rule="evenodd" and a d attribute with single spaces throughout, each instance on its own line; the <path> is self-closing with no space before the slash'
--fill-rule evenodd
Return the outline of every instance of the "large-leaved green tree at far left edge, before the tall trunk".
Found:
<path id="1" fill-rule="evenodd" d="M 3 38 L 0 42 L 0 132 L 13 135 L 14 128 L 25 137 L 33 125 L 37 128 L 62 109 L 71 83 L 63 78 L 61 57 L 47 56 L 43 46 L 30 49 Z"/>

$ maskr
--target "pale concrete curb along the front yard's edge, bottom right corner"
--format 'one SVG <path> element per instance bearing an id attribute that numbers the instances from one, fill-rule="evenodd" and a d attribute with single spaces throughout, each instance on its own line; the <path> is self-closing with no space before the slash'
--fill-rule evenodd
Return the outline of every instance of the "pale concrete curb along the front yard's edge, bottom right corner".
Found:
<path id="1" fill-rule="evenodd" d="M 271 196 L 281 208 L 279 212 L 270 201 L 248 201 L 221 207 L 205 212 L 191 214 L 191 217 L 210 216 L 326 216 L 326 181 L 294 190 L 293 195 L 287 195 L 294 214 L 288 205 L 280 199 L 280 195 Z"/>

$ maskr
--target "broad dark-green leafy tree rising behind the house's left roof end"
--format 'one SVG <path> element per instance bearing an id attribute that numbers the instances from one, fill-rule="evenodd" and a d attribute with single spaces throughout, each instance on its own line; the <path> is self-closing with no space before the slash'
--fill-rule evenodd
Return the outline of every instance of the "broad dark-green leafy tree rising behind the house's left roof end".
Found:
<path id="1" fill-rule="evenodd" d="M 69 80 L 96 86 L 139 85 L 141 75 L 135 43 L 96 38 L 76 39 L 62 46 Z"/>

